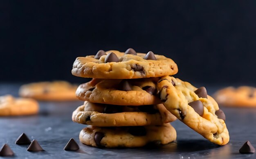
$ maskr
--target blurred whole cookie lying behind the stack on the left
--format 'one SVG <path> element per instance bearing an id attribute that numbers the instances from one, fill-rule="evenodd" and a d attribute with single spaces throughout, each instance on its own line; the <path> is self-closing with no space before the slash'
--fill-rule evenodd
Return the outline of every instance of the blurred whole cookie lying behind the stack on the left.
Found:
<path id="1" fill-rule="evenodd" d="M 19 94 L 36 100 L 66 101 L 77 100 L 77 86 L 66 81 L 38 82 L 22 85 Z"/>

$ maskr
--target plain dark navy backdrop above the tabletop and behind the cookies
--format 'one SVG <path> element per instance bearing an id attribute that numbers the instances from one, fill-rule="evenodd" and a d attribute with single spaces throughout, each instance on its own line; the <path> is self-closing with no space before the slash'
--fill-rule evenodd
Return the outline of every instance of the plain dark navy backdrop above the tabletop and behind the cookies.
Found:
<path id="1" fill-rule="evenodd" d="M 0 1 L 0 81 L 81 83 L 76 57 L 132 47 L 185 81 L 254 85 L 255 17 L 256 1 Z"/>

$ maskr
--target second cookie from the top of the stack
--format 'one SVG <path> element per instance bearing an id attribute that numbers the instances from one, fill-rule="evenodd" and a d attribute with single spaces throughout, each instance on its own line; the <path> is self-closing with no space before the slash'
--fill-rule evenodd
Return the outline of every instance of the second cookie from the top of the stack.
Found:
<path id="1" fill-rule="evenodd" d="M 155 96 L 158 79 L 92 79 L 79 85 L 76 96 L 80 100 L 112 105 L 155 105 L 161 103 Z"/>

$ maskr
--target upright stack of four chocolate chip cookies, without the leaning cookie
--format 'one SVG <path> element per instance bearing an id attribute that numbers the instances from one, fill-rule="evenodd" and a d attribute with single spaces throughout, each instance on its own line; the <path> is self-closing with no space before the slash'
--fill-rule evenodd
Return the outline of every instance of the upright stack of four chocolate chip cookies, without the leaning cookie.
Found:
<path id="1" fill-rule="evenodd" d="M 153 52 L 99 50 L 78 57 L 72 74 L 92 78 L 81 84 L 76 96 L 85 101 L 72 120 L 87 124 L 79 135 L 83 144 L 96 147 L 140 147 L 167 144 L 176 139 L 169 124 L 177 118 L 156 96 L 160 76 L 178 71 L 176 63 Z"/>

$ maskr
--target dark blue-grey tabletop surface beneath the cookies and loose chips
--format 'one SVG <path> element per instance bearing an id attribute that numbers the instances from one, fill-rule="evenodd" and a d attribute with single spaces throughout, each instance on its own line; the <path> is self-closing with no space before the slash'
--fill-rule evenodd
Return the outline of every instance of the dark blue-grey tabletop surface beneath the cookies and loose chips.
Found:
<path id="1" fill-rule="evenodd" d="M 18 96 L 18 86 L 0 84 L 0 95 Z M 211 94 L 216 87 L 208 87 Z M 177 141 L 164 146 L 144 148 L 94 148 L 79 142 L 78 135 L 85 125 L 72 122 L 71 114 L 83 102 L 40 102 L 38 115 L 24 117 L 0 118 L 0 146 L 7 143 L 15 153 L 15 157 L 23 159 L 49 158 L 170 158 L 170 159 L 247 159 L 256 158 L 255 154 L 240 154 L 239 148 L 249 140 L 256 146 L 256 109 L 224 108 L 226 123 L 230 133 L 230 142 L 218 146 L 208 142 L 198 133 L 189 129 L 180 121 L 172 125 L 177 130 Z M 28 152 L 27 147 L 14 144 L 21 133 L 36 139 L 45 151 Z M 74 138 L 80 146 L 78 151 L 65 151 L 64 146 L 70 138 Z M 0 157 L 1 158 L 1 157 Z"/>

